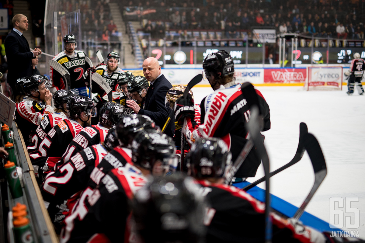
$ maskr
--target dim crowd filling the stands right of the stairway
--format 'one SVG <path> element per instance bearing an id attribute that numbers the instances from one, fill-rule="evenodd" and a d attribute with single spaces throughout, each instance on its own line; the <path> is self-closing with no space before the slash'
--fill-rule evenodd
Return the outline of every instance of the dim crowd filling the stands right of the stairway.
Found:
<path id="1" fill-rule="evenodd" d="M 138 3 L 138 4 L 137 4 Z M 364 39 L 363 6 L 359 0 L 262 1 L 124 1 L 126 10 L 138 9 L 152 38 L 176 31 L 219 30 L 222 38 L 240 38 L 240 31 L 275 28 L 277 34 L 297 33 L 341 39 Z M 136 6 L 137 5 L 137 6 Z M 148 11 L 154 9 L 155 11 Z M 184 34 L 185 32 L 185 34 Z M 190 37 L 190 36 L 189 36 Z"/>

